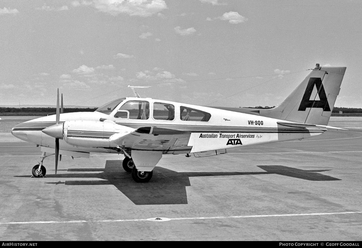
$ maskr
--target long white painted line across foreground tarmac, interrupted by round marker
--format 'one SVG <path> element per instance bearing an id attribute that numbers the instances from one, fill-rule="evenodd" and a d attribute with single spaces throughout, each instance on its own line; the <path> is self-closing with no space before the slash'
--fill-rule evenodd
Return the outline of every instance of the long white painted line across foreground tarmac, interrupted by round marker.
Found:
<path id="1" fill-rule="evenodd" d="M 362 214 L 362 211 L 334 212 L 334 213 L 309 213 L 309 214 L 265 214 L 265 215 L 236 215 L 236 216 L 212 216 L 212 217 L 182 217 L 169 218 L 170 221 L 196 220 L 196 219 L 237 219 L 237 218 L 268 218 L 268 217 L 298 217 L 312 215 L 337 215 L 337 214 Z M 106 223 L 106 222 L 138 222 L 150 221 L 149 219 L 117 219 L 101 221 L 19 221 L 19 222 L 0 222 L 3 225 L 20 225 L 20 224 L 66 224 L 66 223 Z"/>

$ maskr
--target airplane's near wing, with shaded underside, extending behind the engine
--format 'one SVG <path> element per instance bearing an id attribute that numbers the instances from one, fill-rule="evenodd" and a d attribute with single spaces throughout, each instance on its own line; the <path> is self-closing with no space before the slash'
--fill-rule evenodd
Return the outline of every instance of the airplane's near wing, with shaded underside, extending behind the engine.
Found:
<path id="1" fill-rule="evenodd" d="M 142 127 L 131 133 L 113 134 L 111 143 L 132 150 L 162 151 L 163 154 L 189 153 L 190 132 L 158 127 Z"/>

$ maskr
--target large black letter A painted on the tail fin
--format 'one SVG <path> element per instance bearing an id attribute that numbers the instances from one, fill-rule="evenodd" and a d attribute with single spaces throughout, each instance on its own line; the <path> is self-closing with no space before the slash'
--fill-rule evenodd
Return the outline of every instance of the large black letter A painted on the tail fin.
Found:
<path id="1" fill-rule="evenodd" d="M 310 100 L 314 85 L 317 88 L 319 101 Z M 329 108 L 327 95 L 325 95 L 322 79 L 319 77 L 309 78 L 309 82 L 306 91 L 304 92 L 303 99 L 300 103 L 298 111 L 305 111 L 306 108 L 323 108 L 323 111 L 331 111 L 331 109 Z"/>

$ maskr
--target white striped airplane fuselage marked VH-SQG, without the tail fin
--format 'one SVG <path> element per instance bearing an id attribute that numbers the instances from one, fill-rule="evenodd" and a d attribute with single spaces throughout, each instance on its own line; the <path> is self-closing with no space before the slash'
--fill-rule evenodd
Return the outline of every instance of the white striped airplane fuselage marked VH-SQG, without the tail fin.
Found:
<path id="1" fill-rule="evenodd" d="M 147 102 L 149 115 L 147 119 L 115 117 L 117 111 L 128 101 Z M 156 117 L 154 104 L 169 104 L 174 107 L 172 120 L 160 120 Z M 210 116 L 208 121 L 182 120 L 181 111 L 188 108 Z M 21 123 L 13 128 L 12 134 L 21 140 L 42 147 L 54 148 L 54 137 L 45 134 L 43 129 L 55 124 L 55 115 L 44 116 Z M 60 114 L 60 123 L 64 123 L 60 150 L 77 152 L 119 153 L 112 142 L 112 137 L 130 133 L 138 128 L 153 127 L 185 132 L 182 138 L 171 141 L 173 148 L 164 146 L 167 141 L 160 139 L 160 144 L 147 144 L 147 139 L 134 150 L 162 150 L 163 154 L 198 153 L 202 151 L 229 149 L 270 142 L 300 140 L 323 133 L 318 128 L 298 128 L 279 125 L 283 121 L 253 114 L 245 114 L 216 108 L 196 106 L 150 98 L 126 98 L 110 114 L 101 112 L 73 112 Z M 73 128 L 74 127 L 74 128 Z M 82 130 L 83 129 L 83 130 Z M 164 142 L 162 142 L 164 141 Z M 176 144 L 176 145 L 175 145 Z M 131 147 L 127 140 L 122 144 Z"/>

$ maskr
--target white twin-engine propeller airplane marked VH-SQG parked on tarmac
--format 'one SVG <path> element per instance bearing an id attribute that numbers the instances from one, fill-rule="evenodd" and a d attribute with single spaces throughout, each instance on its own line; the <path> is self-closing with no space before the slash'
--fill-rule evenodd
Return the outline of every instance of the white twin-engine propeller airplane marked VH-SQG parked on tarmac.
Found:
<path id="1" fill-rule="evenodd" d="M 63 113 L 25 121 L 12 128 L 21 140 L 41 147 L 35 178 L 46 175 L 43 161 L 55 154 L 89 158 L 118 153 L 134 181 L 150 181 L 164 154 L 227 153 L 230 148 L 302 140 L 324 133 L 346 67 L 316 67 L 279 106 L 271 109 L 204 107 L 135 97 L 116 99 L 94 112 Z M 63 106 L 63 97 L 62 97 Z M 344 129 L 346 130 L 346 129 Z"/>

